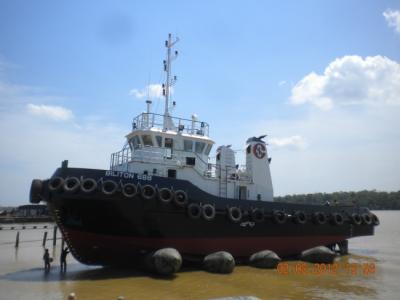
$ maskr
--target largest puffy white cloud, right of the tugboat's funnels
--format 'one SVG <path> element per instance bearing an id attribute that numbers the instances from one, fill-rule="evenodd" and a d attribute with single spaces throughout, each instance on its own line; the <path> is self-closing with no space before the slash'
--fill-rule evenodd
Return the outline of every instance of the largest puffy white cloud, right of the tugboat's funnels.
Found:
<path id="1" fill-rule="evenodd" d="M 291 103 L 322 110 L 348 105 L 400 105 L 400 64 L 383 56 L 344 56 L 322 75 L 311 72 L 292 89 Z"/>

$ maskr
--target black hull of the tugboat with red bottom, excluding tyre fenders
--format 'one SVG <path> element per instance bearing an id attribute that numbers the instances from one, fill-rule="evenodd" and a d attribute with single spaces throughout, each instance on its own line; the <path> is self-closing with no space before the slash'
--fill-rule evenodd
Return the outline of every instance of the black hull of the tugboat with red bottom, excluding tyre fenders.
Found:
<path id="1" fill-rule="evenodd" d="M 176 248 L 188 258 L 221 250 L 244 258 L 265 249 L 284 257 L 314 246 L 374 233 L 374 224 L 362 222 L 356 225 L 352 222 L 353 214 L 369 213 L 365 208 L 354 206 L 222 199 L 185 180 L 157 176 L 143 180 L 137 174 L 105 170 L 60 168 L 54 177 L 93 178 L 99 187 L 107 180 L 118 183 L 115 193 L 105 195 L 101 188 L 90 193 L 81 189 L 67 192 L 62 187 L 50 191 L 49 181 L 43 181 L 40 197 L 47 202 L 74 257 L 85 264 L 127 263 L 164 247 Z M 135 197 L 127 198 L 121 193 L 120 187 L 128 182 L 139 187 Z M 140 187 L 146 185 L 158 191 L 161 188 L 183 190 L 189 198 L 187 204 L 212 204 L 216 215 L 212 220 L 194 219 L 188 215 L 187 205 L 181 207 L 173 201 L 164 203 L 158 194 L 145 199 L 140 194 Z M 227 208 L 233 206 L 243 212 L 240 222 L 228 218 Z M 252 217 L 251 211 L 255 208 L 263 212 L 262 220 Z M 279 224 L 273 217 L 274 211 L 284 211 L 289 217 Z M 305 213 L 305 224 L 295 222 L 293 216 L 297 211 Z M 315 212 L 325 213 L 327 222 L 317 224 L 312 218 Z M 343 216 L 343 224 L 331 219 L 334 213 Z"/>

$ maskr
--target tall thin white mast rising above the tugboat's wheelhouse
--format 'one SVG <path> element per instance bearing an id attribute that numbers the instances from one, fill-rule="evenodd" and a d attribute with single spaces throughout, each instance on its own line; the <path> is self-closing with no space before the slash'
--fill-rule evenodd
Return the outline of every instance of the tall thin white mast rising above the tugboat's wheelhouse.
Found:
<path id="1" fill-rule="evenodd" d="M 168 34 L 168 40 L 165 41 L 165 47 L 167 48 L 167 59 L 163 61 L 164 63 L 164 71 L 167 73 L 165 83 L 162 85 L 163 87 L 163 95 L 165 97 L 165 109 L 164 109 L 164 130 L 170 129 L 171 120 L 169 115 L 169 99 L 171 87 L 175 84 L 177 78 L 174 76 L 171 78 L 171 63 L 178 56 L 178 51 L 175 50 L 174 54 L 171 55 L 172 47 L 179 42 L 179 38 L 177 37 L 174 41 L 172 40 L 172 35 Z"/>

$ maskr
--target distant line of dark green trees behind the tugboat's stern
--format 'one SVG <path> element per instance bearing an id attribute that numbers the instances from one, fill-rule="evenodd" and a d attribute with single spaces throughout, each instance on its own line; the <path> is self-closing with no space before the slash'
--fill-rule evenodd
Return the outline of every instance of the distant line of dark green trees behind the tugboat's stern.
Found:
<path id="1" fill-rule="evenodd" d="M 366 206 L 370 209 L 400 209 L 400 191 L 397 192 L 379 192 L 360 191 L 360 192 L 334 192 L 334 193 L 315 193 L 302 195 L 287 195 L 275 197 L 276 202 L 304 203 L 304 204 L 331 204 L 338 202 L 340 204 L 351 205 L 358 203 L 360 206 Z"/>

